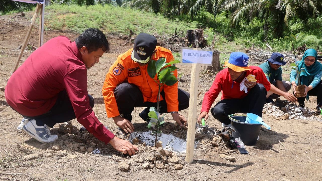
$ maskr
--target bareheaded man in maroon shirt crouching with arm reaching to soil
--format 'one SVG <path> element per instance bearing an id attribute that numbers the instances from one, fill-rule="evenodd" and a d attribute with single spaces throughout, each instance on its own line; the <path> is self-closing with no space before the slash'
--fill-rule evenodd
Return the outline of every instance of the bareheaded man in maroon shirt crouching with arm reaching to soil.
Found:
<path id="1" fill-rule="evenodd" d="M 49 127 L 77 118 L 90 133 L 116 150 L 129 155 L 138 150 L 117 138 L 96 118 L 94 99 L 87 92 L 87 70 L 109 43 L 98 29 L 85 30 L 75 42 L 59 36 L 34 51 L 10 77 L 5 98 L 24 116 L 18 130 L 44 143 L 55 141 Z"/>

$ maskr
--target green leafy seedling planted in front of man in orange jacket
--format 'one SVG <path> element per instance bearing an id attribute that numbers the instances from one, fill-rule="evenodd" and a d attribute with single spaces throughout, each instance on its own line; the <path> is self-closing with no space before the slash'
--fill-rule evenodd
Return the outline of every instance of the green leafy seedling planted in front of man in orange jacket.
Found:
<path id="1" fill-rule="evenodd" d="M 159 92 L 157 96 L 157 108 L 151 107 L 148 116 L 150 117 L 150 122 L 147 125 L 149 129 L 152 130 L 152 134 L 156 135 L 156 140 L 154 146 L 156 147 L 156 142 L 158 139 L 158 134 L 162 133 L 160 128 L 162 124 L 165 123 L 164 117 L 161 116 L 160 112 L 160 92 L 163 85 L 172 86 L 178 80 L 173 75 L 174 71 L 177 69 L 173 64 L 180 63 L 178 60 L 171 62 L 166 62 L 165 58 L 160 58 L 157 61 L 151 60 L 147 66 L 147 73 L 149 76 L 158 84 Z"/>

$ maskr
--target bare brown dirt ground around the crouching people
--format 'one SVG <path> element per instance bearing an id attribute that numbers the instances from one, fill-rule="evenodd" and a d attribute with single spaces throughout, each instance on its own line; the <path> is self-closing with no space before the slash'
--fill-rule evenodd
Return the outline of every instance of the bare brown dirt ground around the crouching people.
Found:
<path id="1" fill-rule="evenodd" d="M 249 155 L 236 151 L 226 153 L 235 157 L 233 162 L 220 157 L 222 152 L 229 150 L 221 139 L 207 134 L 198 138 L 194 161 L 188 164 L 185 154 L 165 152 L 145 144 L 138 145 L 140 151 L 136 156 L 123 156 L 86 131 L 80 132 L 81 125 L 77 120 L 72 120 L 72 130 L 68 126 L 64 128 L 64 124 L 55 125 L 52 134 L 57 134 L 59 139 L 53 143 L 42 144 L 24 133 L 18 133 L 16 127 L 22 117 L 6 103 L 4 88 L 14 69 L 19 46 L 22 45 L 32 15 L 26 13 L 26 17 L 12 19 L 13 16 L 0 16 L 0 180 L 322 180 L 321 115 L 283 120 L 269 112 L 264 113 L 263 120 L 271 126 L 271 130 L 262 129 L 256 145 L 246 146 Z M 32 53 L 33 45 L 38 47 L 38 33 L 36 26 L 20 65 Z M 44 32 L 44 42 L 59 35 L 71 40 L 78 36 L 48 30 Z M 106 116 L 101 88 L 118 54 L 132 45 L 117 35 L 108 36 L 108 40 L 111 51 L 104 53 L 100 62 L 88 71 L 88 92 L 95 99 L 93 109 L 98 119 L 119 136 L 117 126 Z M 191 68 L 180 64 L 177 66 L 181 75 L 179 88 L 189 91 Z M 214 76 L 201 73 L 198 112 L 203 95 L 213 79 Z M 220 96 L 214 104 L 220 100 Z M 310 97 L 306 106 L 314 110 L 316 98 Z M 147 123 L 138 116 L 142 110 L 137 108 L 132 113 L 136 131 L 147 130 Z M 180 113 L 188 117 L 188 110 Z M 170 115 L 167 114 L 165 119 L 164 132 L 186 137 L 186 130 L 175 126 Z M 212 117 L 206 124 L 210 128 L 221 129 L 219 122 Z M 100 154 L 91 153 L 96 148 Z M 128 171 L 118 169 L 121 162 L 129 165 Z"/>

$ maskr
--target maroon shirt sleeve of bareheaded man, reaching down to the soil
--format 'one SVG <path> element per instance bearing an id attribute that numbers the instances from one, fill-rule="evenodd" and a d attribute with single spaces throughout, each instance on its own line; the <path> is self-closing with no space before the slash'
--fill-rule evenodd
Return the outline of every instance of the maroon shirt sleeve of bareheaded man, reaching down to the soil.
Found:
<path id="1" fill-rule="evenodd" d="M 87 96 L 87 72 L 85 67 L 70 71 L 65 75 L 63 83 L 74 108 L 77 121 L 96 138 L 107 144 L 114 137 L 114 134 L 99 122 L 90 107 Z"/>

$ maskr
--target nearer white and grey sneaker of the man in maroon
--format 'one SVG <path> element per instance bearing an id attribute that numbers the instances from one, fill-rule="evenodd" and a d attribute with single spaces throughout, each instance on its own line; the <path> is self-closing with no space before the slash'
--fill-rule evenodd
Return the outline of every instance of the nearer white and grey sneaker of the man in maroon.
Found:
<path id="1" fill-rule="evenodd" d="M 37 126 L 35 119 L 31 119 L 22 127 L 22 130 L 42 143 L 52 142 L 58 138 L 57 135 L 50 134 L 49 127 L 46 124 L 44 126 Z"/>

